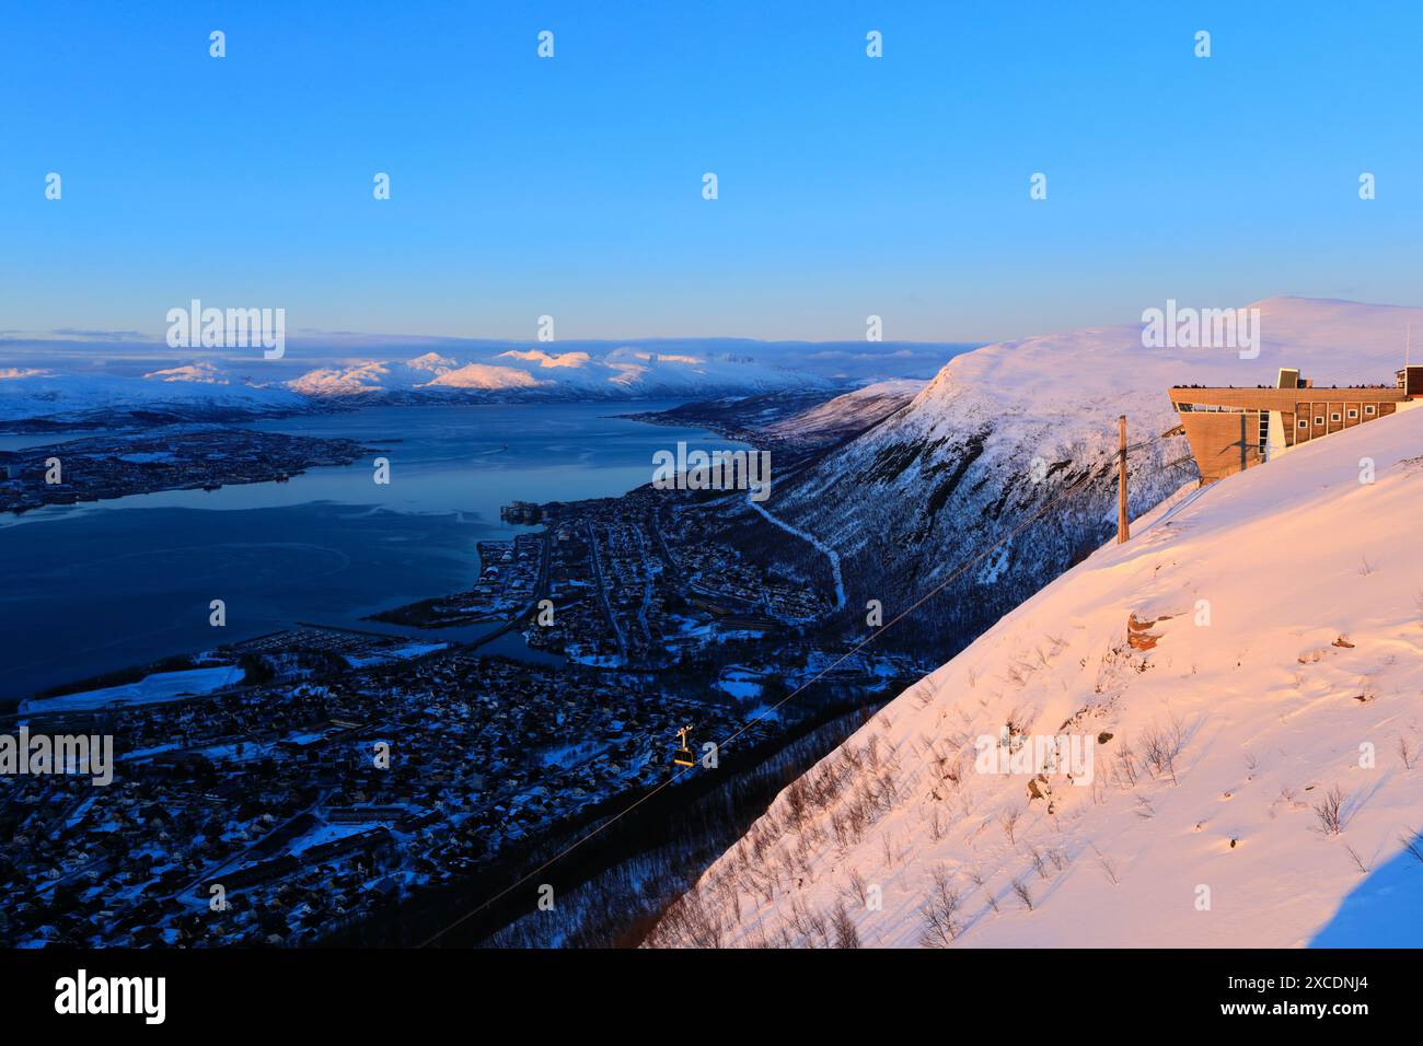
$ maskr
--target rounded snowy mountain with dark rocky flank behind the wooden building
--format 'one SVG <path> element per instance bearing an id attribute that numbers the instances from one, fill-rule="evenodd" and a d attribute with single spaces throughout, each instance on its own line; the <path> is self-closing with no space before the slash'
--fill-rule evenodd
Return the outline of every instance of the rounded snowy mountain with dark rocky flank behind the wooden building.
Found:
<path id="1" fill-rule="evenodd" d="M 1406 324 L 1423 330 L 1419 309 L 1294 297 L 1254 307 L 1257 359 L 1235 349 L 1146 349 L 1140 324 L 956 356 L 905 410 L 814 467 L 777 477 L 766 507 L 838 549 L 851 606 L 879 599 L 889 618 L 1072 487 L 952 582 L 921 616 L 925 628 L 905 630 L 921 649 L 972 638 L 1114 528 L 1118 414 L 1133 443 L 1150 441 L 1131 455 L 1140 514 L 1194 475 L 1185 440 L 1157 438 L 1175 424 L 1173 384 L 1274 384 L 1281 366 L 1318 384 L 1392 383 Z"/>

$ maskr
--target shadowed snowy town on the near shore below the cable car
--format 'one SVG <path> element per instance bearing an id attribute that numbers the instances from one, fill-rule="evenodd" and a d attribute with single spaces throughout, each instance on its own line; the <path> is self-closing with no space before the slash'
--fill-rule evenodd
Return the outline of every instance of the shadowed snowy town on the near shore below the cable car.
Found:
<path id="1" fill-rule="evenodd" d="M 652 498 L 551 507 L 545 534 L 480 544 L 470 592 L 374 615 L 418 635 L 285 629 L 24 702 L 3 722 L 120 744 L 111 787 L 7 781 L 0 932 L 329 941 L 667 781 L 682 726 L 699 756 L 726 737 L 751 749 L 922 672 L 810 638 L 830 598 L 714 546 L 707 507 L 669 508 L 662 534 Z M 474 643 L 438 639 L 505 618 Z M 509 626 L 561 656 L 481 653 Z"/>

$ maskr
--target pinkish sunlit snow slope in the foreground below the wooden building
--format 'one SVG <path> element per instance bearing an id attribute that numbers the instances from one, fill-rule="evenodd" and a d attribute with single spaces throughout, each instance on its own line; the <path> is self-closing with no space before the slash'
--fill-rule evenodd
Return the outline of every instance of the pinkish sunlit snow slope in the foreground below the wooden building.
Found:
<path id="1" fill-rule="evenodd" d="M 1420 508 L 1423 406 L 1183 491 L 783 791 L 652 944 L 1423 945 Z"/>

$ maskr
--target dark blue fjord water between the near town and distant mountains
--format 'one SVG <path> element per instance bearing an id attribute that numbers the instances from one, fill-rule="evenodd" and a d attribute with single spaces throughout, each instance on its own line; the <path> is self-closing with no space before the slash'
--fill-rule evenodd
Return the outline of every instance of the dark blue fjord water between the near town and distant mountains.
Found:
<path id="1" fill-rule="evenodd" d="M 477 542 L 536 529 L 501 522 L 501 505 L 623 494 L 649 482 L 653 453 L 679 440 L 741 445 L 613 417 L 670 406 L 431 404 L 279 418 L 250 427 L 376 450 L 285 484 L 0 515 L 0 699 L 296 622 L 408 633 L 361 619 L 471 585 Z M 376 457 L 390 460 L 388 485 L 374 482 Z M 208 623 L 213 599 L 226 603 L 221 629 Z"/>

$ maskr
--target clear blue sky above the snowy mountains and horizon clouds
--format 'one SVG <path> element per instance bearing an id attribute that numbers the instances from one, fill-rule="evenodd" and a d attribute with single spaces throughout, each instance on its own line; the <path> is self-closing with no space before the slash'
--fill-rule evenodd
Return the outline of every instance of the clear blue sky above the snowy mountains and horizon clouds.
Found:
<path id="1" fill-rule="evenodd" d="M 939 342 L 1417 305 L 1420 95 L 1417 3 L 10 0 L 0 330 L 161 333 L 192 297 L 293 332 Z"/>

